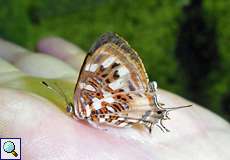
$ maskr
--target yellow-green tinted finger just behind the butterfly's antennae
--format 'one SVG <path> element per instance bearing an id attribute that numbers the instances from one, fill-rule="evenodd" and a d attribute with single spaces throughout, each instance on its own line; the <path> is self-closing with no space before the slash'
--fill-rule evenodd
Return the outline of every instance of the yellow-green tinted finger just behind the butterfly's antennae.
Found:
<path id="1" fill-rule="evenodd" d="M 62 99 L 63 97 L 47 89 L 41 82 L 57 83 L 61 86 L 66 96 L 72 97 L 72 90 L 74 89 L 74 83 L 72 82 L 73 78 L 63 77 L 60 79 L 53 79 L 53 77 L 57 77 L 57 75 L 53 72 L 51 72 L 50 75 L 52 75 L 52 80 L 28 76 L 14 65 L 0 58 L 0 87 L 17 88 L 34 92 L 46 97 L 58 106 L 63 105 L 65 103 Z"/>

